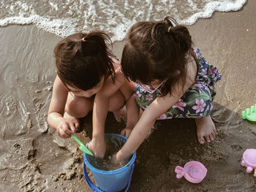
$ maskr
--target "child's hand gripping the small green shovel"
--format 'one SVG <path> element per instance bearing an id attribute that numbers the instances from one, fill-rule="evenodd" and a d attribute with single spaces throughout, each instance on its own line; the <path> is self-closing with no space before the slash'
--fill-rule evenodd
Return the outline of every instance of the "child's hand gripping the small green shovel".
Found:
<path id="1" fill-rule="evenodd" d="M 57 126 L 56 131 L 59 137 L 66 139 L 69 138 L 71 134 L 75 134 L 76 126 L 78 126 L 78 124 L 73 123 L 72 120 L 63 118 L 61 123 Z"/>

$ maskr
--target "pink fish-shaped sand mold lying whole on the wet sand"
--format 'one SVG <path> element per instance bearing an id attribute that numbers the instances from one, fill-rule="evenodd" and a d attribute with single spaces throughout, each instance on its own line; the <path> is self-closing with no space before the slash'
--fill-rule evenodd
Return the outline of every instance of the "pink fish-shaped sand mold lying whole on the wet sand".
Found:
<path id="1" fill-rule="evenodd" d="M 189 161 L 184 168 L 176 166 L 175 172 L 178 179 L 185 177 L 191 183 L 200 183 L 206 177 L 207 169 L 199 161 Z"/>

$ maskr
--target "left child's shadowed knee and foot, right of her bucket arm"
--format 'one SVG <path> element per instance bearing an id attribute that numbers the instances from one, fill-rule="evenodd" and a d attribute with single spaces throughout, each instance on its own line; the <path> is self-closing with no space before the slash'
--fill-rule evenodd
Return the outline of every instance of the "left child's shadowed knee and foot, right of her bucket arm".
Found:
<path id="1" fill-rule="evenodd" d="M 113 112 L 118 122 L 121 122 L 121 120 L 126 120 L 126 108 L 124 104 L 124 95 L 121 93 L 121 91 L 116 91 L 116 93 L 110 98 L 108 111 Z"/>

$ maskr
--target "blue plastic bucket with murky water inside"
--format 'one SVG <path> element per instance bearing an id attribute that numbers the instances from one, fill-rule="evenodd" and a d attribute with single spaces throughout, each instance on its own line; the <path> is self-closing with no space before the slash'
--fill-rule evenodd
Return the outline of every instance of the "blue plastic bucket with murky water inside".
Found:
<path id="1" fill-rule="evenodd" d="M 123 137 L 119 134 L 105 134 L 106 145 L 108 146 L 107 157 L 103 160 L 100 158 L 95 158 L 86 153 L 83 154 L 84 157 L 84 167 L 83 172 L 86 178 L 86 182 L 90 186 L 92 191 L 95 192 L 117 192 L 121 191 L 125 187 L 129 189 L 129 185 L 132 180 L 132 172 L 134 169 L 134 163 L 136 158 L 136 152 L 132 154 L 127 162 L 121 165 L 121 168 L 112 167 L 109 164 L 109 157 L 115 154 L 121 146 L 127 141 L 126 137 Z M 87 173 L 86 167 L 91 170 L 91 173 L 94 176 L 94 180 L 97 183 L 97 186 L 92 183 L 89 175 Z"/>

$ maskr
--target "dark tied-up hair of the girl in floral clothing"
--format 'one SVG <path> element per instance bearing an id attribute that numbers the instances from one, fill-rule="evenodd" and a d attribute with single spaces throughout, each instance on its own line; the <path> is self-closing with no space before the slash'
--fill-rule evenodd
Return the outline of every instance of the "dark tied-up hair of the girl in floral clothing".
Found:
<path id="1" fill-rule="evenodd" d="M 121 59 L 124 75 L 146 85 L 153 80 L 167 79 L 162 96 L 171 94 L 178 80 L 185 85 L 188 55 L 197 62 L 186 26 L 178 25 L 170 17 L 162 21 L 138 22 L 127 37 Z"/>

